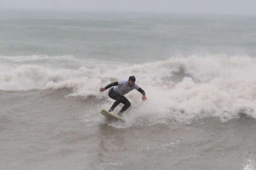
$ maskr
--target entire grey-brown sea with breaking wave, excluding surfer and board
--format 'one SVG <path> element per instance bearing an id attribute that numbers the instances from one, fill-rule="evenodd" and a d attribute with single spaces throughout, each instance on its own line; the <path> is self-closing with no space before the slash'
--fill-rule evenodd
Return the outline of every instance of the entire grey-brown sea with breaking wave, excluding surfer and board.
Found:
<path id="1" fill-rule="evenodd" d="M 256 169 L 255 57 L 256 16 L 1 9 L 0 169 Z"/>

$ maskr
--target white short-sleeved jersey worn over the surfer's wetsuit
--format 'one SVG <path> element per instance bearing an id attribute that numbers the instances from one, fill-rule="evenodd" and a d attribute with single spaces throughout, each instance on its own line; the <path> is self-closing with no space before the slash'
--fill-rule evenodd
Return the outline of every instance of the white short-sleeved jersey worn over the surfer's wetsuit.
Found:
<path id="1" fill-rule="evenodd" d="M 128 84 L 128 79 L 118 81 L 118 86 L 114 86 L 114 91 L 118 94 L 125 95 L 132 91 L 133 89 L 140 88 L 138 84 L 134 83 L 133 87 L 130 87 Z"/>

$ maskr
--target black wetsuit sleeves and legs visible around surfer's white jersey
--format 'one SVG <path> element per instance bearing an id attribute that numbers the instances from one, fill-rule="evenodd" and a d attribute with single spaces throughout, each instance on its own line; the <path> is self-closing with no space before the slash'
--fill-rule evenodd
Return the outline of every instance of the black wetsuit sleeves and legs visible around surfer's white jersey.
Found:
<path id="1" fill-rule="evenodd" d="M 111 88 L 112 86 L 118 86 L 118 81 L 116 82 L 112 82 L 111 84 L 107 85 L 105 87 L 105 89 L 108 89 L 108 88 Z M 140 93 L 142 93 L 142 95 L 145 95 L 145 91 L 143 91 L 142 88 L 138 88 L 137 89 Z M 113 105 L 111 106 L 110 110 L 109 111 L 113 111 L 114 108 L 116 108 L 116 106 L 118 106 L 120 103 L 123 103 L 124 106 L 123 108 L 119 111 L 118 115 L 121 116 L 121 114 L 126 111 L 130 106 L 131 106 L 131 103 L 130 101 L 123 95 L 119 94 L 118 92 L 114 91 L 114 88 L 111 88 L 109 90 L 109 97 L 116 100 Z"/>

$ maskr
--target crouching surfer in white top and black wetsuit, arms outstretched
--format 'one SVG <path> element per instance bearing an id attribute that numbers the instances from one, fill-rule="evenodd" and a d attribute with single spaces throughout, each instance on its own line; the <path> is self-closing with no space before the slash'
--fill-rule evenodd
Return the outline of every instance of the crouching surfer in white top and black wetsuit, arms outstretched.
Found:
<path id="1" fill-rule="evenodd" d="M 123 112 L 131 106 L 130 101 L 124 95 L 129 93 L 133 89 L 137 89 L 140 93 L 142 93 L 142 101 L 147 100 L 145 91 L 143 91 L 143 89 L 140 88 L 138 84 L 135 83 L 135 81 L 135 76 L 130 76 L 129 79 L 112 82 L 111 84 L 108 84 L 105 88 L 100 88 L 100 91 L 102 92 L 114 86 L 109 90 L 109 97 L 116 101 L 109 109 L 109 112 L 113 111 L 114 108 L 116 108 L 116 106 L 118 106 L 120 103 L 123 103 L 124 106 L 118 113 L 118 116 L 122 116 Z"/>

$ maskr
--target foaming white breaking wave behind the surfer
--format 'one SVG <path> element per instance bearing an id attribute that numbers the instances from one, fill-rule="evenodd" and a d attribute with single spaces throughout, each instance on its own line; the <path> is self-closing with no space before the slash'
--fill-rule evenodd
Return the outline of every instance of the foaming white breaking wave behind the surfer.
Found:
<path id="1" fill-rule="evenodd" d="M 135 118 L 186 122 L 217 116 L 226 121 L 240 113 L 256 118 L 256 59 L 246 55 L 192 55 L 144 64 L 68 55 L 2 56 L 0 62 L 2 91 L 65 88 L 70 89 L 70 96 L 106 99 L 107 93 L 99 93 L 101 86 L 135 75 L 148 98 L 142 103 L 136 91 L 127 95 Z"/>

